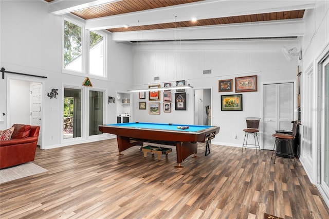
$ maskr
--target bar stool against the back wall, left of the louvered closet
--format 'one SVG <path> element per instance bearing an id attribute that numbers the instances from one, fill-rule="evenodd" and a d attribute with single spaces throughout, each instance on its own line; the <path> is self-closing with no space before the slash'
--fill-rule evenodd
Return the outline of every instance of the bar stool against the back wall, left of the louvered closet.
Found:
<path id="1" fill-rule="evenodd" d="M 245 132 L 245 138 L 243 139 L 241 151 L 243 151 L 243 147 L 245 147 L 247 149 L 247 145 L 249 145 L 248 148 L 251 148 L 251 145 L 252 145 L 252 148 L 256 149 L 256 154 L 257 154 L 257 148 L 259 149 L 259 151 L 261 151 L 261 147 L 259 145 L 258 136 L 257 136 L 257 133 L 259 132 L 258 128 L 259 128 L 260 120 L 261 120 L 261 118 L 258 118 L 258 117 L 246 117 L 247 129 L 243 130 Z M 248 144 L 249 134 L 253 135 L 255 144 Z M 246 137 L 247 137 L 247 139 L 246 139 Z M 256 143 L 256 139 L 257 139 L 257 143 Z"/>

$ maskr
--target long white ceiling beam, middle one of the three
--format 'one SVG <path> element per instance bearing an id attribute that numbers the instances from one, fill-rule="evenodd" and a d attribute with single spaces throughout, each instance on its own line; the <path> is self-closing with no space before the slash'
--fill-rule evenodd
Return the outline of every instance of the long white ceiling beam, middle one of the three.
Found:
<path id="1" fill-rule="evenodd" d="M 153 10 L 101 17 L 86 21 L 86 29 L 100 30 L 129 26 L 152 25 L 210 19 L 215 17 L 239 16 L 246 14 L 270 13 L 278 11 L 301 10 L 315 7 L 315 1 L 202 1 L 190 4 L 169 6 Z M 177 16 L 177 18 L 176 18 Z"/>

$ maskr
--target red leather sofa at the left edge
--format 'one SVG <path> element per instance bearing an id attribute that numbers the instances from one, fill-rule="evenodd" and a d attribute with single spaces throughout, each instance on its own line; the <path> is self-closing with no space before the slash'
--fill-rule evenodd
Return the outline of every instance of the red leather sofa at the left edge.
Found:
<path id="1" fill-rule="evenodd" d="M 0 140 L 0 169 L 34 160 L 40 126 L 13 124 L 10 140 Z"/>

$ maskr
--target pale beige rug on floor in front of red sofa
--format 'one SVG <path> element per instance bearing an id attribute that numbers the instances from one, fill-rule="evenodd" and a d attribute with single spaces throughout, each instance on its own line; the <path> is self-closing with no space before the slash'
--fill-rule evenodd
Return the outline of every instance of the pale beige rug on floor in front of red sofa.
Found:
<path id="1" fill-rule="evenodd" d="M 0 184 L 15 179 L 31 176 L 38 173 L 46 172 L 47 170 L 38 165 L 27 162 L 10 168 L 0 170 Z"/>

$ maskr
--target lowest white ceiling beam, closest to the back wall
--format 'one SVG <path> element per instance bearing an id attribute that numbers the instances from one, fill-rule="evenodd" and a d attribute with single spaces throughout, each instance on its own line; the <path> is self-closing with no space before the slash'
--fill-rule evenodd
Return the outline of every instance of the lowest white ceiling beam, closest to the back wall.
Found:
<path id="1" fill-rule="evenodd" d="M 117 42 L 302 36 L 304 35 L 304 20 L 296 19 L 292 21 L 282 20 L 231 25 L 210 25 L 193 28 L 171 28 L 161 30 L 115 32 L 111 33 L 111 35 L 112 40 Z"/>

